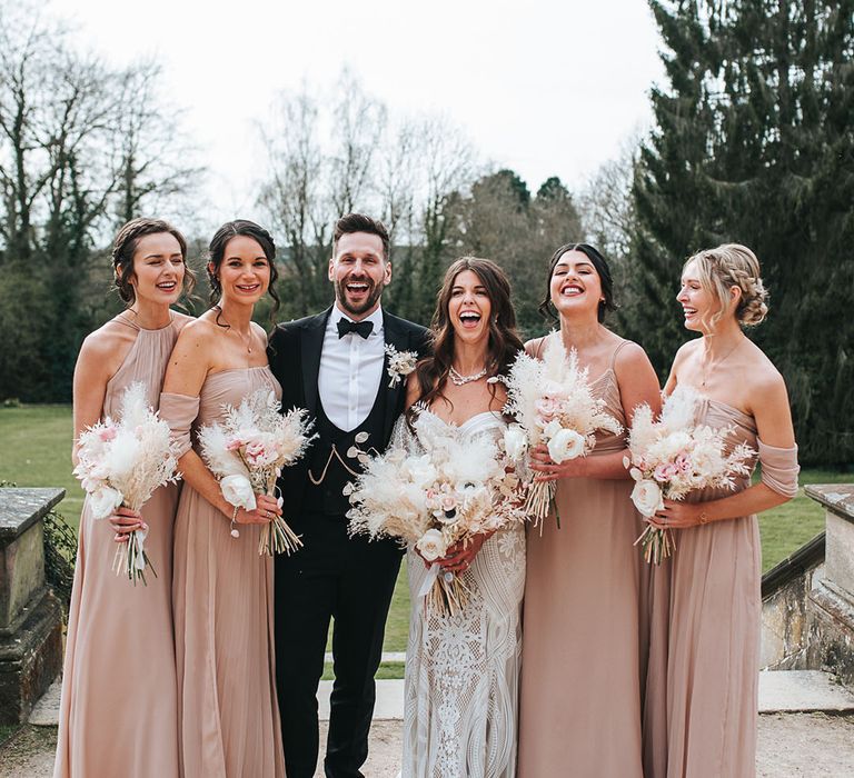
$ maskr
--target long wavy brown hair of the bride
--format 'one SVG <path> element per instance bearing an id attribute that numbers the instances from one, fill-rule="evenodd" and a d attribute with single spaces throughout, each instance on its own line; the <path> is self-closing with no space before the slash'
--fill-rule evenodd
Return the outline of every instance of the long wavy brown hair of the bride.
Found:
<path id="1" fill-rule="evenodd" d="M 510 282 L 504 270 L 490 259 L 461 257 L 445 273 L 441 289 L 436 297 L 436 311 L 430 322 L 433 356 L 421 359 L 415 368 L 418 381 L 417 402 L 429 406 L 436 398 L 443 397 L 443 389 L 448 381 L 450 366 L 454 363 L 454 327 L 448 316 L 454 281 L 465 270 L 474 272 L 491 303 L 489 315 L 489 341 L 487 345 L 487 376 L 505 375 L 513 365 L 523 343 L 516 331 L 516 311 L 510 302 Z M 495 397 L 495 385 L 489 385 Z M 407 411 L 411 421 L 414 406 Z"/>

